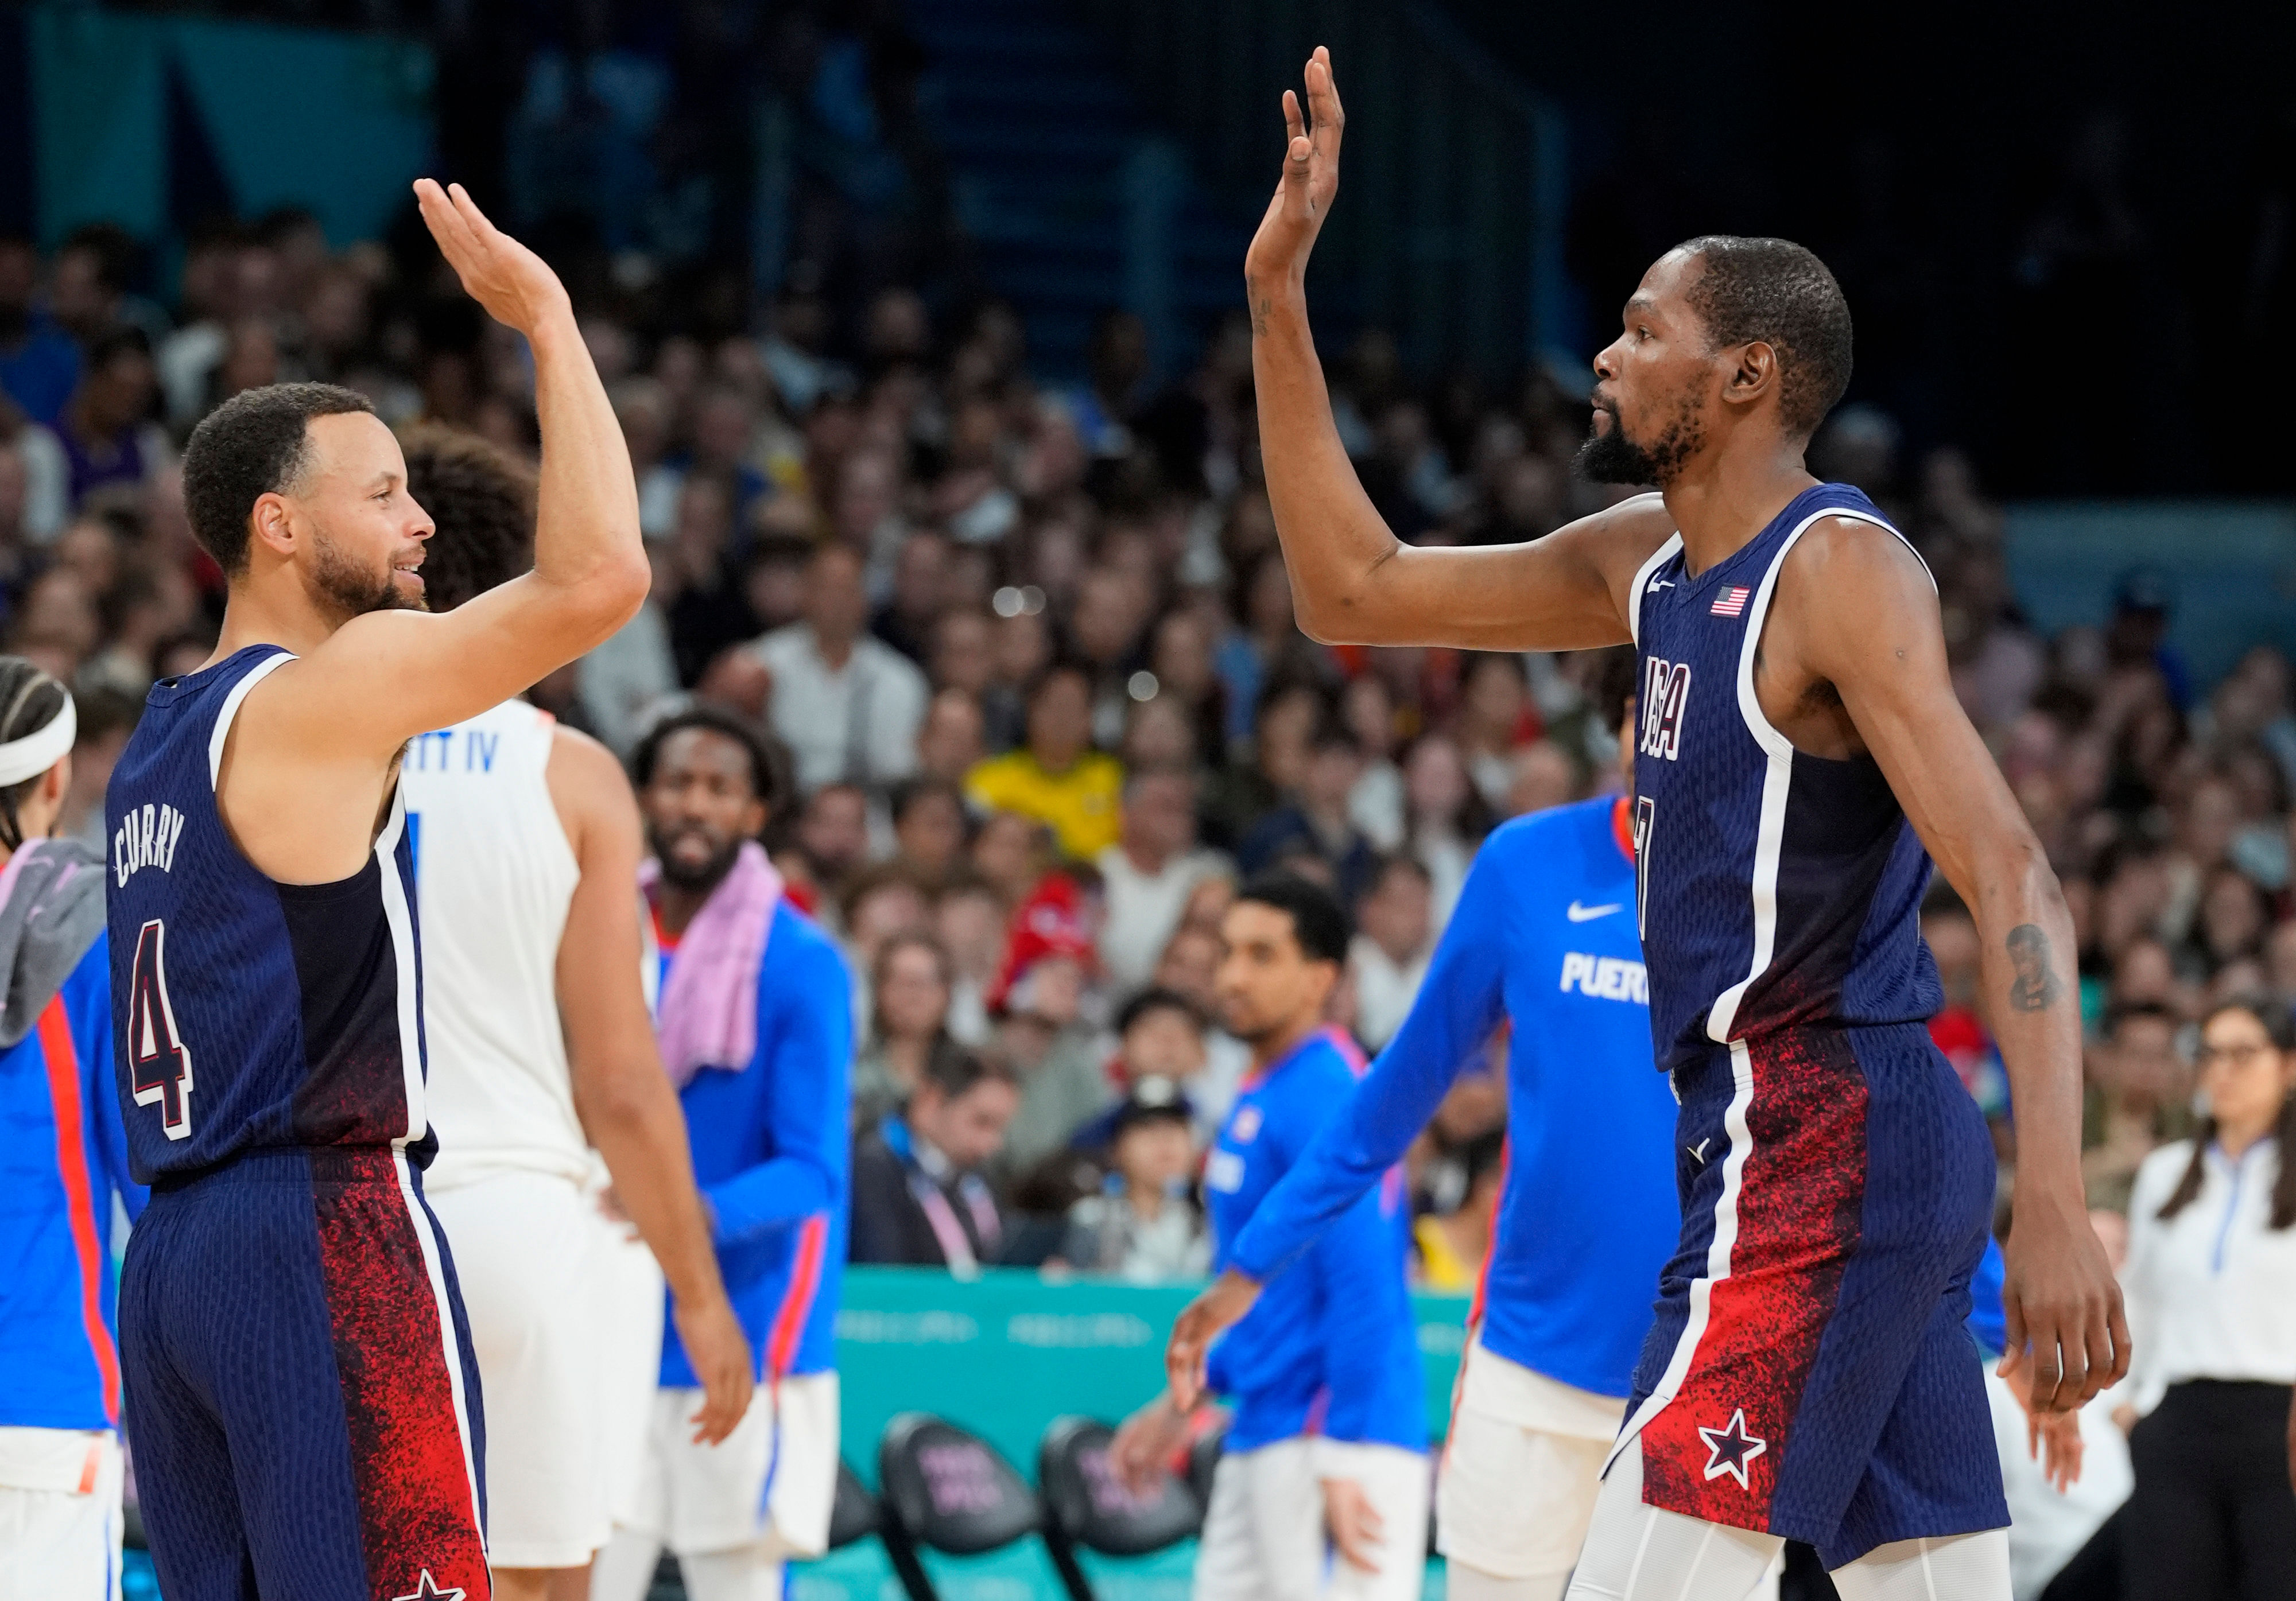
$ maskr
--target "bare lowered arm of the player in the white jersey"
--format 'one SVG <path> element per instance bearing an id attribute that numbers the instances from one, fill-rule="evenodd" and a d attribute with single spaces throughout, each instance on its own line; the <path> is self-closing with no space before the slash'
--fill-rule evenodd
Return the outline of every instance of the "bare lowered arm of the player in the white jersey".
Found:
<path id="1" fill-rule="evenodd" d="M 558 729 L 546 773 L 581 867 L 558 940 L 574 1112 L 606 1158 L 615 1200 L 661 1262 L 677 1337 L 703 1381 L 693 1422 L 700 1438 L 716 1443 L 748 1411 L 751 1349 L 709 1248 L 687 1119 L 661 1071 L 638 986 L 638 803 L 613 752 L 572 729 Z"/>

